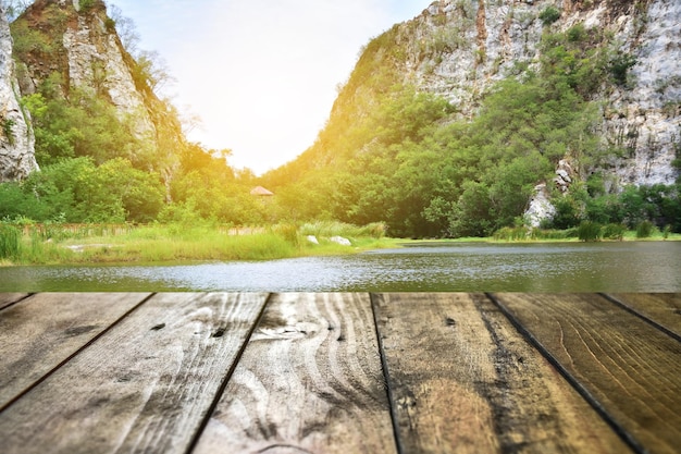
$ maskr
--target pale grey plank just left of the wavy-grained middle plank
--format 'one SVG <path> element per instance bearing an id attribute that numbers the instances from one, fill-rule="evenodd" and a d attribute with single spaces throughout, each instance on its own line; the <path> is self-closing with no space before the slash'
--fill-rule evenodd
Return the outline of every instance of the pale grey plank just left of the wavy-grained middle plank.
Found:
<path id="1" fill-rule="evenodd" d="M 3 454 L 187 452 L 264 302 L 153 296 L 0 414 Z"/>

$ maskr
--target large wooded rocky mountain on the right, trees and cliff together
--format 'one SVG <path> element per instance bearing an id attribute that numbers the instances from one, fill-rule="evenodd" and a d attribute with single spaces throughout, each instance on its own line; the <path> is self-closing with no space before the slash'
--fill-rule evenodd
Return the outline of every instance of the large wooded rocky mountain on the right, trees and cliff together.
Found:
<path id="1" fill-rule="evenodd" d="M 585 219 L 677 181 L 680 38 L 677 0 L 435 1 L 362 49 L 315 143 L 264 183 L 403 235 Z"/>

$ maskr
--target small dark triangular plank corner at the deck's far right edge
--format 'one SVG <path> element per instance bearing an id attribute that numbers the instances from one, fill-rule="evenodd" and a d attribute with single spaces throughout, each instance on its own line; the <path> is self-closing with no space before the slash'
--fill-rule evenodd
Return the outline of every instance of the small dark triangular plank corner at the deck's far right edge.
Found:
<path id="1" fill-rule="evenodd" d="M 617 293 L 607 296 L 681 336 L 681 293 Z"/>

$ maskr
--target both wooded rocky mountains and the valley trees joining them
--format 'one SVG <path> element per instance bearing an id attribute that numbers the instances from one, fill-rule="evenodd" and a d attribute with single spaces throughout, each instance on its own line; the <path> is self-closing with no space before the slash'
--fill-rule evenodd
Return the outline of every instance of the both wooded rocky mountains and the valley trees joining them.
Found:
<path id="1" fill-rule="evenodd" d="M 0 217 L 681 232 L 677 0 L 436 1 L 368 42 L 314 144 L 259 180 L 187 143 L 115 27 L 102 0 L 36 0 L 14 63 L 2 35 L 2 177 L 41 172 L 0 185 Z"/>

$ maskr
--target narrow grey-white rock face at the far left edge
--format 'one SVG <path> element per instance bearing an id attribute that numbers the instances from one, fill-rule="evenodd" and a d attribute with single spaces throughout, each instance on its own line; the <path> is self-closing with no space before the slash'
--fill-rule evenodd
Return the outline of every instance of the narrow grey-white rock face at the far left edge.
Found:
<path id="1" fill-rule="evenodd" d="M 12 35 L 0 7 L 0 183 L 26 177 L 38 169 L 28 113 L 18 102 Z"/>

